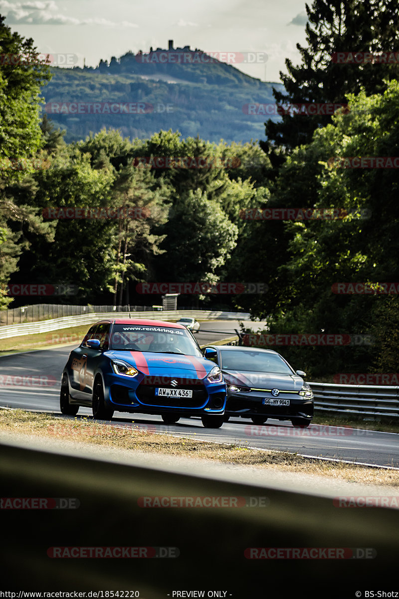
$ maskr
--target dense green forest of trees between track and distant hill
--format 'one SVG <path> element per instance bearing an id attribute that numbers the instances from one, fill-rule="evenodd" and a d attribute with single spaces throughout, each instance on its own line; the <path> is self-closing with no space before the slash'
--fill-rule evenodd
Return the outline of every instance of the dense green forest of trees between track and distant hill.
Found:
<path id="1" fill-rule="evenodd" d="M 270 333 L 367 335 L 370 344 L 279 347 L 309 377 L 397 371 L 397 168 L 345 168 L 345 158 L 399 156 L 398 63 L 335 63 L 334 52 L 381 55 L 399 39 L 390 0 L 314 0 L 301 64 L 287 60 L 278 104 L 347 104 L 334 115 L 288 112 L 267 142 L 211 143 L 165 126 L 130 139 L 102 129 L 65 142 L 40 96 L 51 71 L 0 66 L 0 309 L 10 283 L 74 284 L 74 304 L 148 305 L 138 282 L 259 282 L 266 294 L 179 298 L 237 308 Z M 35 54 L 0 20 L 2 52 Z M 28 61 L 27 61 L 28 62 Z M 108 65 L 106 65 L 108 68 Z M 165 123 L 169 125 L 167 119 Z M 148 157 L 205 158 L 203 168 L 156 168 Z M 371 163 L 370 163 L 371 164 Z M 350 165 L 349 165 L 350 166 Z M 375 165 L 374 165 L 375 166 Z M 124 208 L 143 218 L 48 219 L 48 208 Z M 265 209 L 339 210 L 333 219 L 261 218 Z M 243 219 L 251 213 L 254 219 Z M 370 283 L 337 294 L 337 283 Z M 26 302 L 26 298 L 24 300 Z"/>

